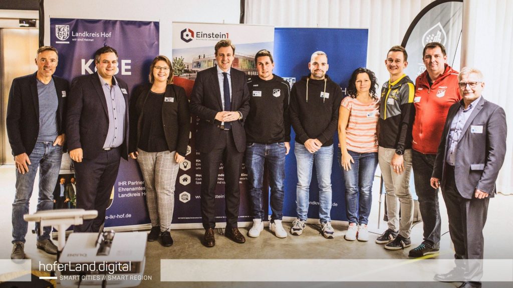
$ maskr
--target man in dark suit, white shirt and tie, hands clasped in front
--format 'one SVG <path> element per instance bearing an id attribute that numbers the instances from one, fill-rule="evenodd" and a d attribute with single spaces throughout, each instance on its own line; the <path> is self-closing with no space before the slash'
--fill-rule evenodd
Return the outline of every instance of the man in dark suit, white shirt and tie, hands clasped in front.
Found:
<path id="1" fill-rule="evenodd" d="M 215 245 L 215 186 L 221 161 L 224 163 L 226 237 L 237 243 L 246 239 L 237 228 L 239 218 L 239 178 L 246 133 L 244 119 L 249 113 L 249 91 L 245 74 L 231 68 L 235 46 L 221 40 L 215 47 L 217 66 L 198 73 L 191 95 L 191 112 L 200 117 L 196 149 L 201 153 L 201 214 L 203 244 Z"/>

